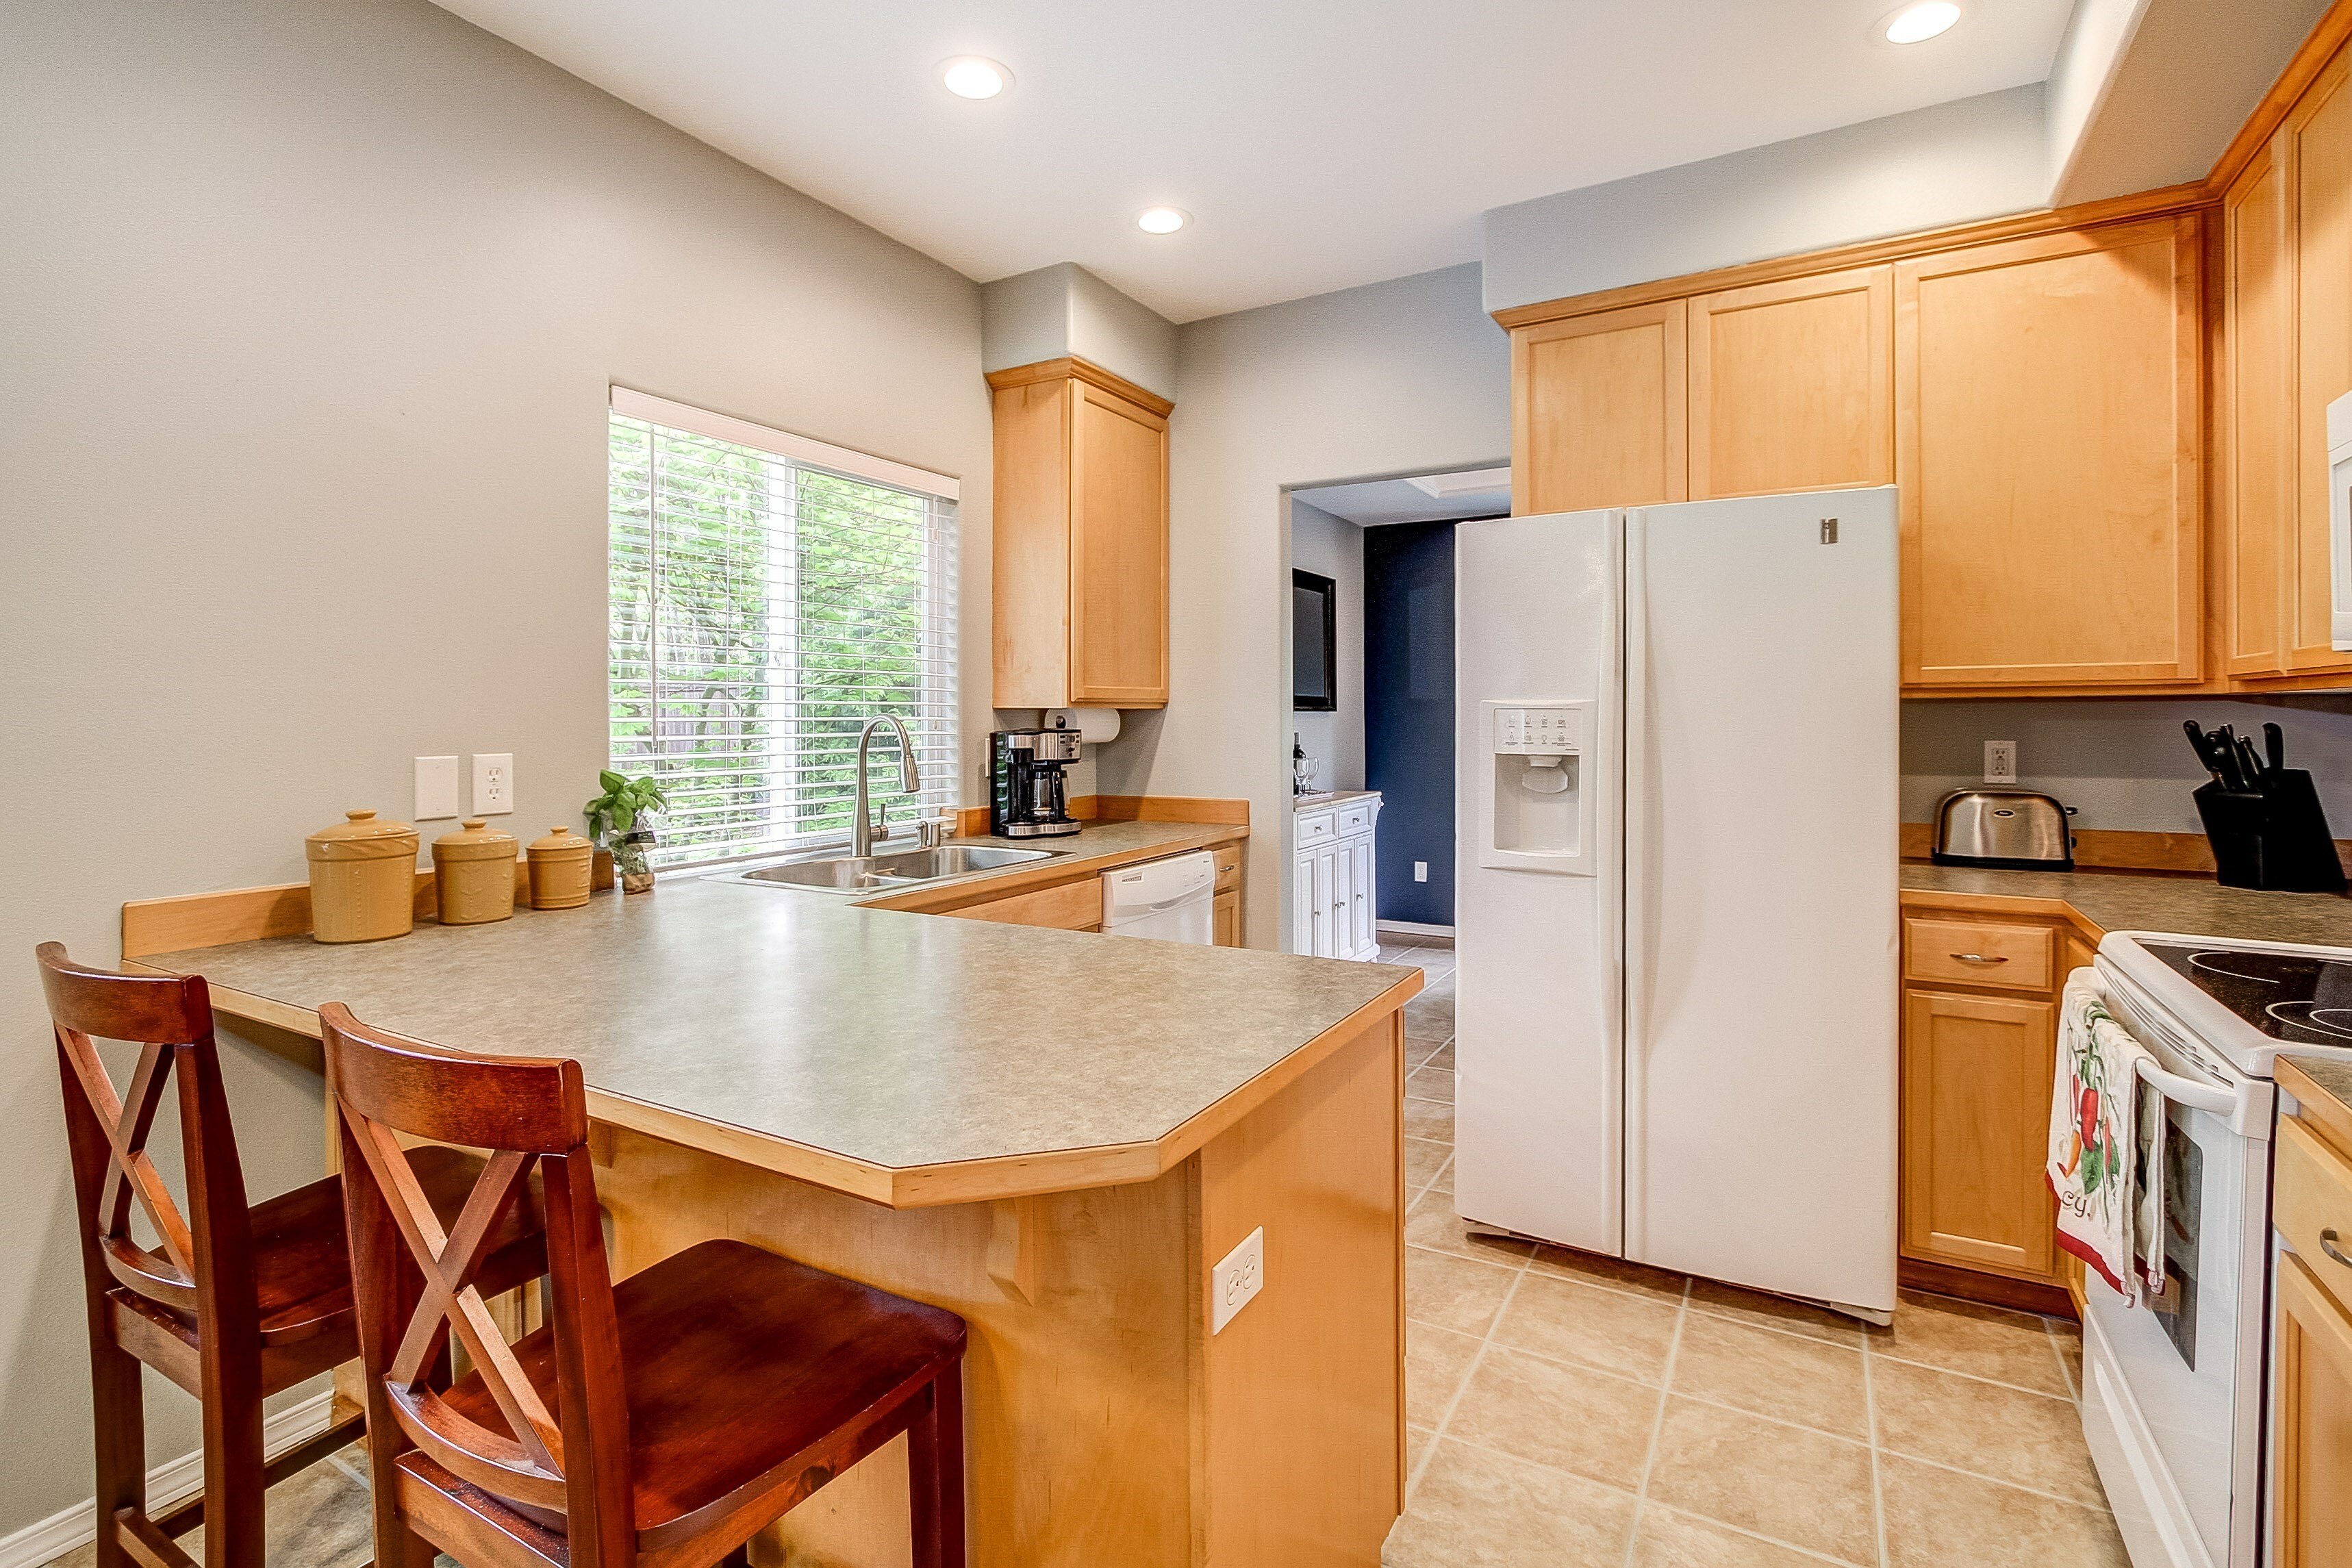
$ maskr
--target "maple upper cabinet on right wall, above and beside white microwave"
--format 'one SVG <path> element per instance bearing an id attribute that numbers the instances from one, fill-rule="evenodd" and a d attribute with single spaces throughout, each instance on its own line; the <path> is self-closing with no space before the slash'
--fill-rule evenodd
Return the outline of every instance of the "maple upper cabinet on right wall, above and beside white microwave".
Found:
<path id="1" fill-rule="evenodd" d="M 2352 670 L 2328 646 L 2326 407 L 2352 390 L 2352 89 L 2338 54 L 2223 197 L 2227 672 Z"/>

